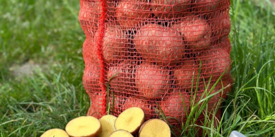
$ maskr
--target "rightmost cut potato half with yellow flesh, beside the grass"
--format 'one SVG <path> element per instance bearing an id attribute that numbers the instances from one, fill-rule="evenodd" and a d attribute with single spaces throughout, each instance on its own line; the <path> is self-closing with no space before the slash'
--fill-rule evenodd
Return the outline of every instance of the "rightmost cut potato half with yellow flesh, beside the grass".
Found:
<path id="1" fill-rule="evenodd" d="M 160 119 L 150 119 L 146 121 L 139 131 L 140 137 L 170 137 L 170 127 Z"/>

